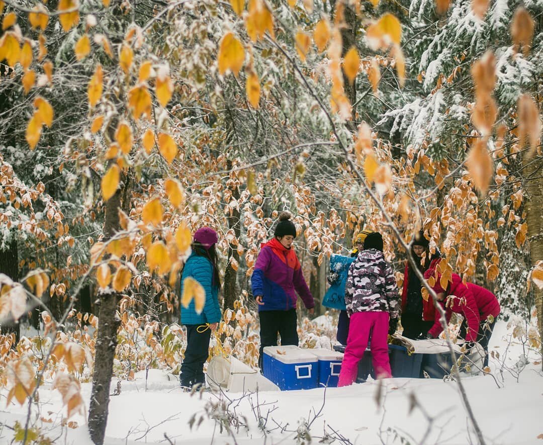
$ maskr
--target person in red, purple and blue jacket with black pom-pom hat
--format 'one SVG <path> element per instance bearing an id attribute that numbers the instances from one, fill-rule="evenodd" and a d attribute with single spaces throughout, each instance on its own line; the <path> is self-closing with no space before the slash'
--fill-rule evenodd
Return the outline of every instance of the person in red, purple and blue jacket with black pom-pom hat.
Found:
<path id="1" fill-rule="evenodd" d="M 258 303 L 260 317 L 260 356 L 266 346 L 281 344 L 298 346 L 296 331 L 296 293 L 300 295 L 309 313 L 313 314 L 315 302 L 302 274 L 300 261 L 292 248 L 296 227 L 291 214 L 282 212 L 275 227 L 274 238 L 262 245 L 251 276 L 252 295 Z"/>

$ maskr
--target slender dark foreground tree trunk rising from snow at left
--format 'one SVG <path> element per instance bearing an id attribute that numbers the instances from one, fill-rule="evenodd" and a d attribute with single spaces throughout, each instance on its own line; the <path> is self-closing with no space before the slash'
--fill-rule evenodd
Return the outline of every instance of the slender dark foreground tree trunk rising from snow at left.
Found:
<path id="1" fill-rule="evenodd" d="M 104 239 L 107 241 L 120 229 L 119 209 L 121 209 L 122 189 L 117 190 L 105 206 Z M 111 377 L 113 374 L 113 358 L 117 346 L 117 329 L 119 321 L 116 317 L 118 293 L 100 294 L 98 296 L 98 339 L 94 355 L 94 372 L 92 374 L 91 403 L 89 406 L 89 433 L 97 445 L 104 443 L 105 428 L 108 423 L 108 406 Z"/>

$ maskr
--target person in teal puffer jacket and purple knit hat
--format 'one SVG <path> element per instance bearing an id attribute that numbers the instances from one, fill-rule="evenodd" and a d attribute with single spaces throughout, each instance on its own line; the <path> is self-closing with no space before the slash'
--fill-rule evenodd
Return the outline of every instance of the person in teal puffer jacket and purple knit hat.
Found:
<path id="1" fill-rule="evenodd" d="M 193 240 L 192 254 L 181 275 L 181 295 L 184 281 L 190 277 L 204 288 L 205 304 L 201 312 L 196 311 L 194 298 L 186 308 L 181 306 L 181 324 L 187 328 L 187 349 L 179 380 L 186 390 L 205 384 L 204 363 L 209 356 L 211 332 L 217 329 L 220 322 L 217 232 L 210 227 L 202 227 L 194 233 Z"/>

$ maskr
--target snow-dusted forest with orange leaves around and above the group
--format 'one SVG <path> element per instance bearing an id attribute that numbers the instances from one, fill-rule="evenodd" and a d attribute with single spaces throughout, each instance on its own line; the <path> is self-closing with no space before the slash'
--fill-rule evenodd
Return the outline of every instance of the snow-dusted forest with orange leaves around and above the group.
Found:
<path id="1" fill-rule="evenodd" d="M 249 277 L 283 210 L 317 315 L 327 259 L 357 230 L 383 233 L 401 286 L 422 228 L 443 279 L 494 291 L 541 348 L 543 2 L 0 11 L 0 384 L 28 404 L 24 441 L 43 381 L 68 417 L 92 381 L 102 443 L 112 378 L 179 372 L 179 305 L 203 304 L 179 275 L 201 225 L 219 233 L 226 352 L 254 365 Z M 40 335 L 20 339 L 21 319 Z"/>

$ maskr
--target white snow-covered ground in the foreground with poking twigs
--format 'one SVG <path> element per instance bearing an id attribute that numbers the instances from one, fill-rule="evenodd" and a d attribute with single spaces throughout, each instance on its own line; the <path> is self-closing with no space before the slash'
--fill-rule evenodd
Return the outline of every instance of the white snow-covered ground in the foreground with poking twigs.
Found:
<path id="1" fill-rule="evenodd" d="M 487 443 L 543 444 L 543 440 L 538 438 L 543 434 L 540 356 L 530 352 L 529 363 L 517 379 L 516 363 L 523 348 L 517 342 L 510 342 L 510 331 L 508 333 L 505 322 L 497 323 L 490 349 L 500 353 L 499 361 L 491 359 L 490 362 L 497 383 L 489 375 L 465 377 L 463 380 Z M 503 373 L 500 372 L 502 362 Z M 111 392 L 116 383 L 112 383 Z M 238 430 L 232 427 L 234 438 L 226 430 L 221 433 L 218 422 L 210 419 L 210 415 L 220 417 L 224 412 L 220 409 L 221 402 L 228 404 L 228 399 L 212 393 L 191 396 L 181 392 L 174 376 L 152 370 L 147 380 L 143 372 L 137 374 L 133 382 L 123 381 L 121 394 L 111 397 L 106 443 L 302 443 L 296 441 L 296 430 L 305 430 L 303 424 L 307 422 L 312 422 L 309 434 L 314 443 L 321 441 L 326 434 L 336 437 L 334 443 L 337 444 L 414 444 L 421 443 L 423 438 L 425 443 L 476 442 L 473 431 L 468 427 L 469 421 L 456 383 L 399 378 L 384 380 L 383 383 L 381 391 L 376 381 L 328 388 L 324 408 L 316 419 L 315 412 L 323 406 L 323 388 L 264 392 L 259 393 L 258 398 L 256 394 L 246 397 L 226 394 L 233 400 L 229 411 L 235 417 L 231 422 L 238 421 L 248 427 L 241 425 Z M 88 407 L 91 385 L 83 384 L 82 390 Z M 378 392 L 381 392 L 380 405 L 376 403 Z M 413 394 L 422 410 L 415 406 L 410 413 Z M 5 390 L 0 397 L 5 400 Z M 44 419 L 43 423 L 37 421 L 36 424 L 42 425 L 42 433 L 55 443 L 91 443 L 82 416 L 70 419 L 78 423 L 76 428 L 54 427 L 65 411 L 61 408 L 59 393 L 50 391 L 50 385 L 40 390 L 40 406 L 41 412 L 33 415 L 33 422 L 36 417 Z M 266 435 L 258 428 L 258 409 L 261 417 L 267 418 L 264 421 Z M 0 422 L 9 426 L 15 421 L 24 424 L 26 412 L 27 405 L 10 404 L 0 410 Z M 189 423 L 194 415 L 195 423 L 191 429 Z M 200 418 L 202 421 L 197 427 Z M 48 422 L 49 419 L 53 422 Z M 8 443 L 12 435 L 9 428 L 1 428 L 0 443 Z M 343 442 L 337 438 L 338 435 L 344 437 Z"/>

